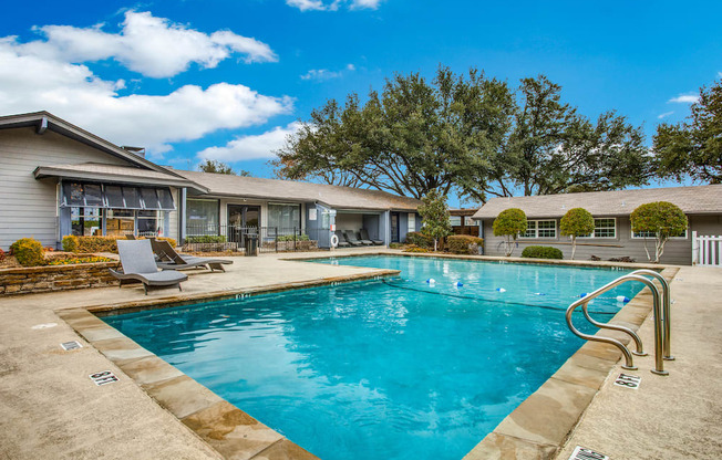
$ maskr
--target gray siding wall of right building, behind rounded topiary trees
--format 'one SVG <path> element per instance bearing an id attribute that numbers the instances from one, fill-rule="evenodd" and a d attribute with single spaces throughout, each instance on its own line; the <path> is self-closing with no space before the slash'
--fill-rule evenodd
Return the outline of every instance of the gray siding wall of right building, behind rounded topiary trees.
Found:
<path id="1" fill-rule="evenodd" d="M 671 239 L 664 245 L 664 253 L 661 263 L 690 265 L 692 263 L 692 231 L 700 234 L 722 234 L 720 216 L 688 216 L 690 228 L 685 239 Z M 536 219 L 535 219 L 536 220 Z M 547 219 L 540 219 L 547 220 Z M 548 219 L 551 220 L 551 219 Z M 484 220 L 484 253 L 486 255 L 504 255 L 504 247 L 501 244 L 504 239 L 494 237 L 492 229 L 493 219 Z M 512 255 L 520 257 L 527 245 L 550 245 L 559 248 L 565 259 L 571 257 L 571 242 L 568 237 L 559 237 L 559 219 L 557 219 L 557 238 L 518 239 L 517 248 Z M 654 240 L 647 240 L 647 248 L 653 257 Z M 631 238 L 631 222 L 629 217 L 617 218 L 616 238 L 577 239 L 576 260 L 589 260 L 591 255 L 602 260 L 610 258 L 630 257 L 637 262 L 647 262 L 644 252 L 644 240 Z"/>

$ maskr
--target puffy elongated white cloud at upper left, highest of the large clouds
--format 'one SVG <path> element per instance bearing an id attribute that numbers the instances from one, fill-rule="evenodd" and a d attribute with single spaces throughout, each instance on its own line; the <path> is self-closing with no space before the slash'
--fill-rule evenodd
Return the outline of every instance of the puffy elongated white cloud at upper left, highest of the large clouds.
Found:
<path id="1" fill-rule="evenodd" d="M 192 63 L 215 67 L 234 53 L 243 55 L 247 63 L 278 60 L 270 46 L 258 40 L 230 31 L 206 34 L 151 12 L 127 11 L 118 33 L 104 32 L 103 25 L 35 28 L 47 40 L 18 44 L 17 51 L 21 55 L 72 63 L 114 59 L 152 77 L 177 75 Z"/>

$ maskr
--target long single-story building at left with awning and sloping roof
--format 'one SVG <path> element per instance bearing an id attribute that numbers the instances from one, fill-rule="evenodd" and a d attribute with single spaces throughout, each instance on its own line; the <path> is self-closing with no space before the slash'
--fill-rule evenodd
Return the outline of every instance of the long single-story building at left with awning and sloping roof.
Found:
<path id="1" fill-rule="evenodd" d="M 156 234 L 261 239 L 307 234 L 330 245 L 365 229 L 385 244 L 421 228 L 419 200 L 350 187 L 176 170 L 48 112 L 0 117 L 0 248 L 32 237 Z"/>

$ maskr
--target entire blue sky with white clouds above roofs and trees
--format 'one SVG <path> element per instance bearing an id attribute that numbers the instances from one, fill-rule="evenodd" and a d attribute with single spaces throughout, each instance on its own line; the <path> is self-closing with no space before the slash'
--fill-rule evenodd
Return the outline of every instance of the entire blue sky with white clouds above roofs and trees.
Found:
<path id="1" fill-rule="evenodd" d="M 651 143 L 722 76 L 722 2 L 595 3 L 10 2 L 0 114 L 48 109 L 161 164 L 213 157 L 269 177 L 269 150 L 313 107 L 442 63 L 512 85 L 546 74 L 584 114 L 617 109 Z"/>

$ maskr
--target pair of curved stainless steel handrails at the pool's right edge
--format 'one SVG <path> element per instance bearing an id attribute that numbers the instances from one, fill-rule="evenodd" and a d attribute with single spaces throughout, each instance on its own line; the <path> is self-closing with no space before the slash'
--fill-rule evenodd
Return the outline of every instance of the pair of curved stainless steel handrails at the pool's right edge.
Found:
<path id="1" fill-rule="evenodd" d="M 566 313 L 566 320 L 567 320 L 567 325 L 569 326 L 569 330 L 577 336 L 587 339 L 587 341 L 592 341 L 592 342 L 602 342 L 607 344 L 611 344 L 619 348 L 625 355 L 625 365 L 621 367 L 623 369 L 629 369 L 629 370 L 636 370 L 637 367 L 633 364 L 632 359 L 632 354 L 629 352 L 629 349 L 622 344 L 621 342 L 610 338 L 610 337 L 601 337 L 601 336 L 596 336 L 596 335 L 589 335 L 585 334 L 581 331 L 577 330 L 574 324 L 571 323 L 571 314 L 574 311 L 581 305 L 581 310 L 585 313 L 585 316 L 591 324 L 596 325 L 597 327 L 600 328 L 608 328 L 608 330 L 615 330 L 615 331 L 620 331 L 623 333 L 629 334 L 633 339 L 637 345 L 637 353 L 641 354 L 643 353 L 642 351 L 642 343 L 639 336 L 630 328 L 625 327 L 625 326 L 619 326 L 615 324 L 605 324 L 605 323 L 599 323 L 595 320 L 592 320 L 589 316 L 589 313 L 587 312 L 587 304 L 589 301 L 598 297 L 602 293 L 611 290 L 612 288 L 618 286 L 619 284 L 623 284 L 628 281 L 639 281 L 640 283 L 646 284 L 650 291 L 652 292 L 652 302 L 653 302 L 653 309 L 654 309 L 654 369 L 652 373 L 659 374 L 659 375 L 668 375 L 669 373 L 664 370 L 664 363 L 662 359 L 662 328 L 661 328 L 661 309 L 660 309 L 660 302 L 659 302 L 659 291 L 657 290 L 657 286 L 654 283 L 641 275 L 636 275 L 636 274 L 626 274 L 622 276 L 619 276 L 618 279 L 611 281 L 610 283 L 605 284 L 604 286 L 599 288 L 598 290 L 585 295 L 584 297 L 579 299 L 578 301 L 573 302 L 569 307 L 567 309 Z"/>

